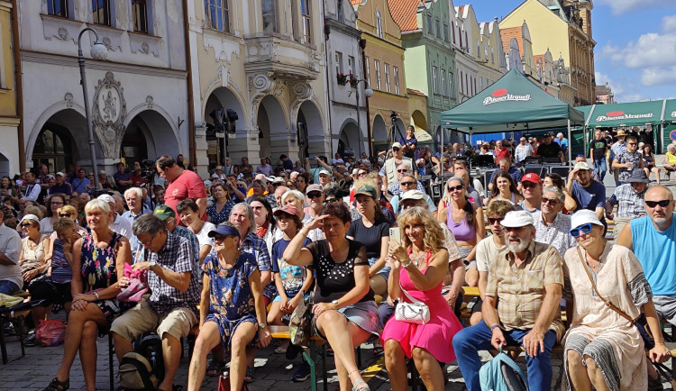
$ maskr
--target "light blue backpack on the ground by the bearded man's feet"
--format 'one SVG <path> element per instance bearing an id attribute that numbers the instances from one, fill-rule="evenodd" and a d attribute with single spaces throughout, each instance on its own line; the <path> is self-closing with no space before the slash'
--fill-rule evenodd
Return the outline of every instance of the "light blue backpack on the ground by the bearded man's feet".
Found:
<path id="1" fill-rule="evenodd" d="M 479 382 L 482 391 L 527 391 L 525 374 L 507 354 L 500 352 L 481 366 Z"/>

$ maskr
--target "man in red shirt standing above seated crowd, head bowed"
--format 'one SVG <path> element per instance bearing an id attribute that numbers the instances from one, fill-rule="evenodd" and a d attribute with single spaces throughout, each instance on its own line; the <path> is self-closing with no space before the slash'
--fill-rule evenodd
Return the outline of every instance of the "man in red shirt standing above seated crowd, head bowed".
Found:
<path id="1" fill-rule="evenodd" d="M 176 205 L 186 198 L 192 198 L 199 207 L 197 215 L 205 220 L 206 188 L 202 178 L 192 171 L 178 167 L 176 161 L 168 155 L 162 155 L 155 165 L 160 176 L 169 181 L 169 186 L 164 192 L 164 204 L 173 209 L 176 214 Z M 180 224 L 179 217 L 177 220 Z"/>

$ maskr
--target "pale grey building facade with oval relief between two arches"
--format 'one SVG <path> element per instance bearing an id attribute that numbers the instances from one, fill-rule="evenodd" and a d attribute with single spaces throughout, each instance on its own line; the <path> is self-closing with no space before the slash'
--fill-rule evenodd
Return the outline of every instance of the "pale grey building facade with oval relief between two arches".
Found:
<path id="1" fill-rule="evenodd" d="M 165 153 L 188 156 L 183 2 L 17 3 L 27 167 L 44 163 L 53 173 L 91 165 L 78 44 L 97 166 L 112 171 L 118 161 L 131 166 Z M 81 33 L 87 27 L 98 33 L 107 59 L 92 59 L 96 36 Z"/>

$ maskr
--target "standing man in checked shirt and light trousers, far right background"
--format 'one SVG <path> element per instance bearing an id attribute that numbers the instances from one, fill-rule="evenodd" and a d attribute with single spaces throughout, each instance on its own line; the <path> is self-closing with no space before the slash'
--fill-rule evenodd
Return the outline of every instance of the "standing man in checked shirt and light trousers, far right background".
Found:
<path id="1" fill-rule="evenodd" d="M 635 168 L 627 183 L 617 186 L 615 193 L 606 201 L 606 217 L 615 221 L 613 238 L 619 239 L 619 235 L 625 228 L 626 223 L 645 215 L 645 191 L 648 189 L 650 179 L 645 177 L 645 171 Z M 613 214 L 613 207 L 617 205 L 617 214 Z"/>

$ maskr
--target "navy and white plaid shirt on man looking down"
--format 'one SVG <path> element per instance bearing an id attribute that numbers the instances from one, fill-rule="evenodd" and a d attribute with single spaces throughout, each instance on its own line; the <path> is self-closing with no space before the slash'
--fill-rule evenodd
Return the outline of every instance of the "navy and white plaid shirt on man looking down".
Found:
<path id="1" fill-rule="evenodd" d="M 190 244 L 184 238 L 171 232 L 167 232 L 167 242 L 160 252 L 151 252 L 143 249 L 144 259 L 154 259 L 162 268 L 166 268 L 176 273 L 190 272 L 190 285 L 186 292 L 180 292 L 177 288 L 169 286 L 157 274 L 149 271 L 148 286 L 152 294 L 149 303 L 153 310 L 162 316 L 178 307 L 187 307 L 193 313 L 197 312 L 199 303 L 199 278 L 201 273 L 197 269 L 197 259 L 190 256 Z M 157 267 L 156 267 L 157 268 Z"/>

